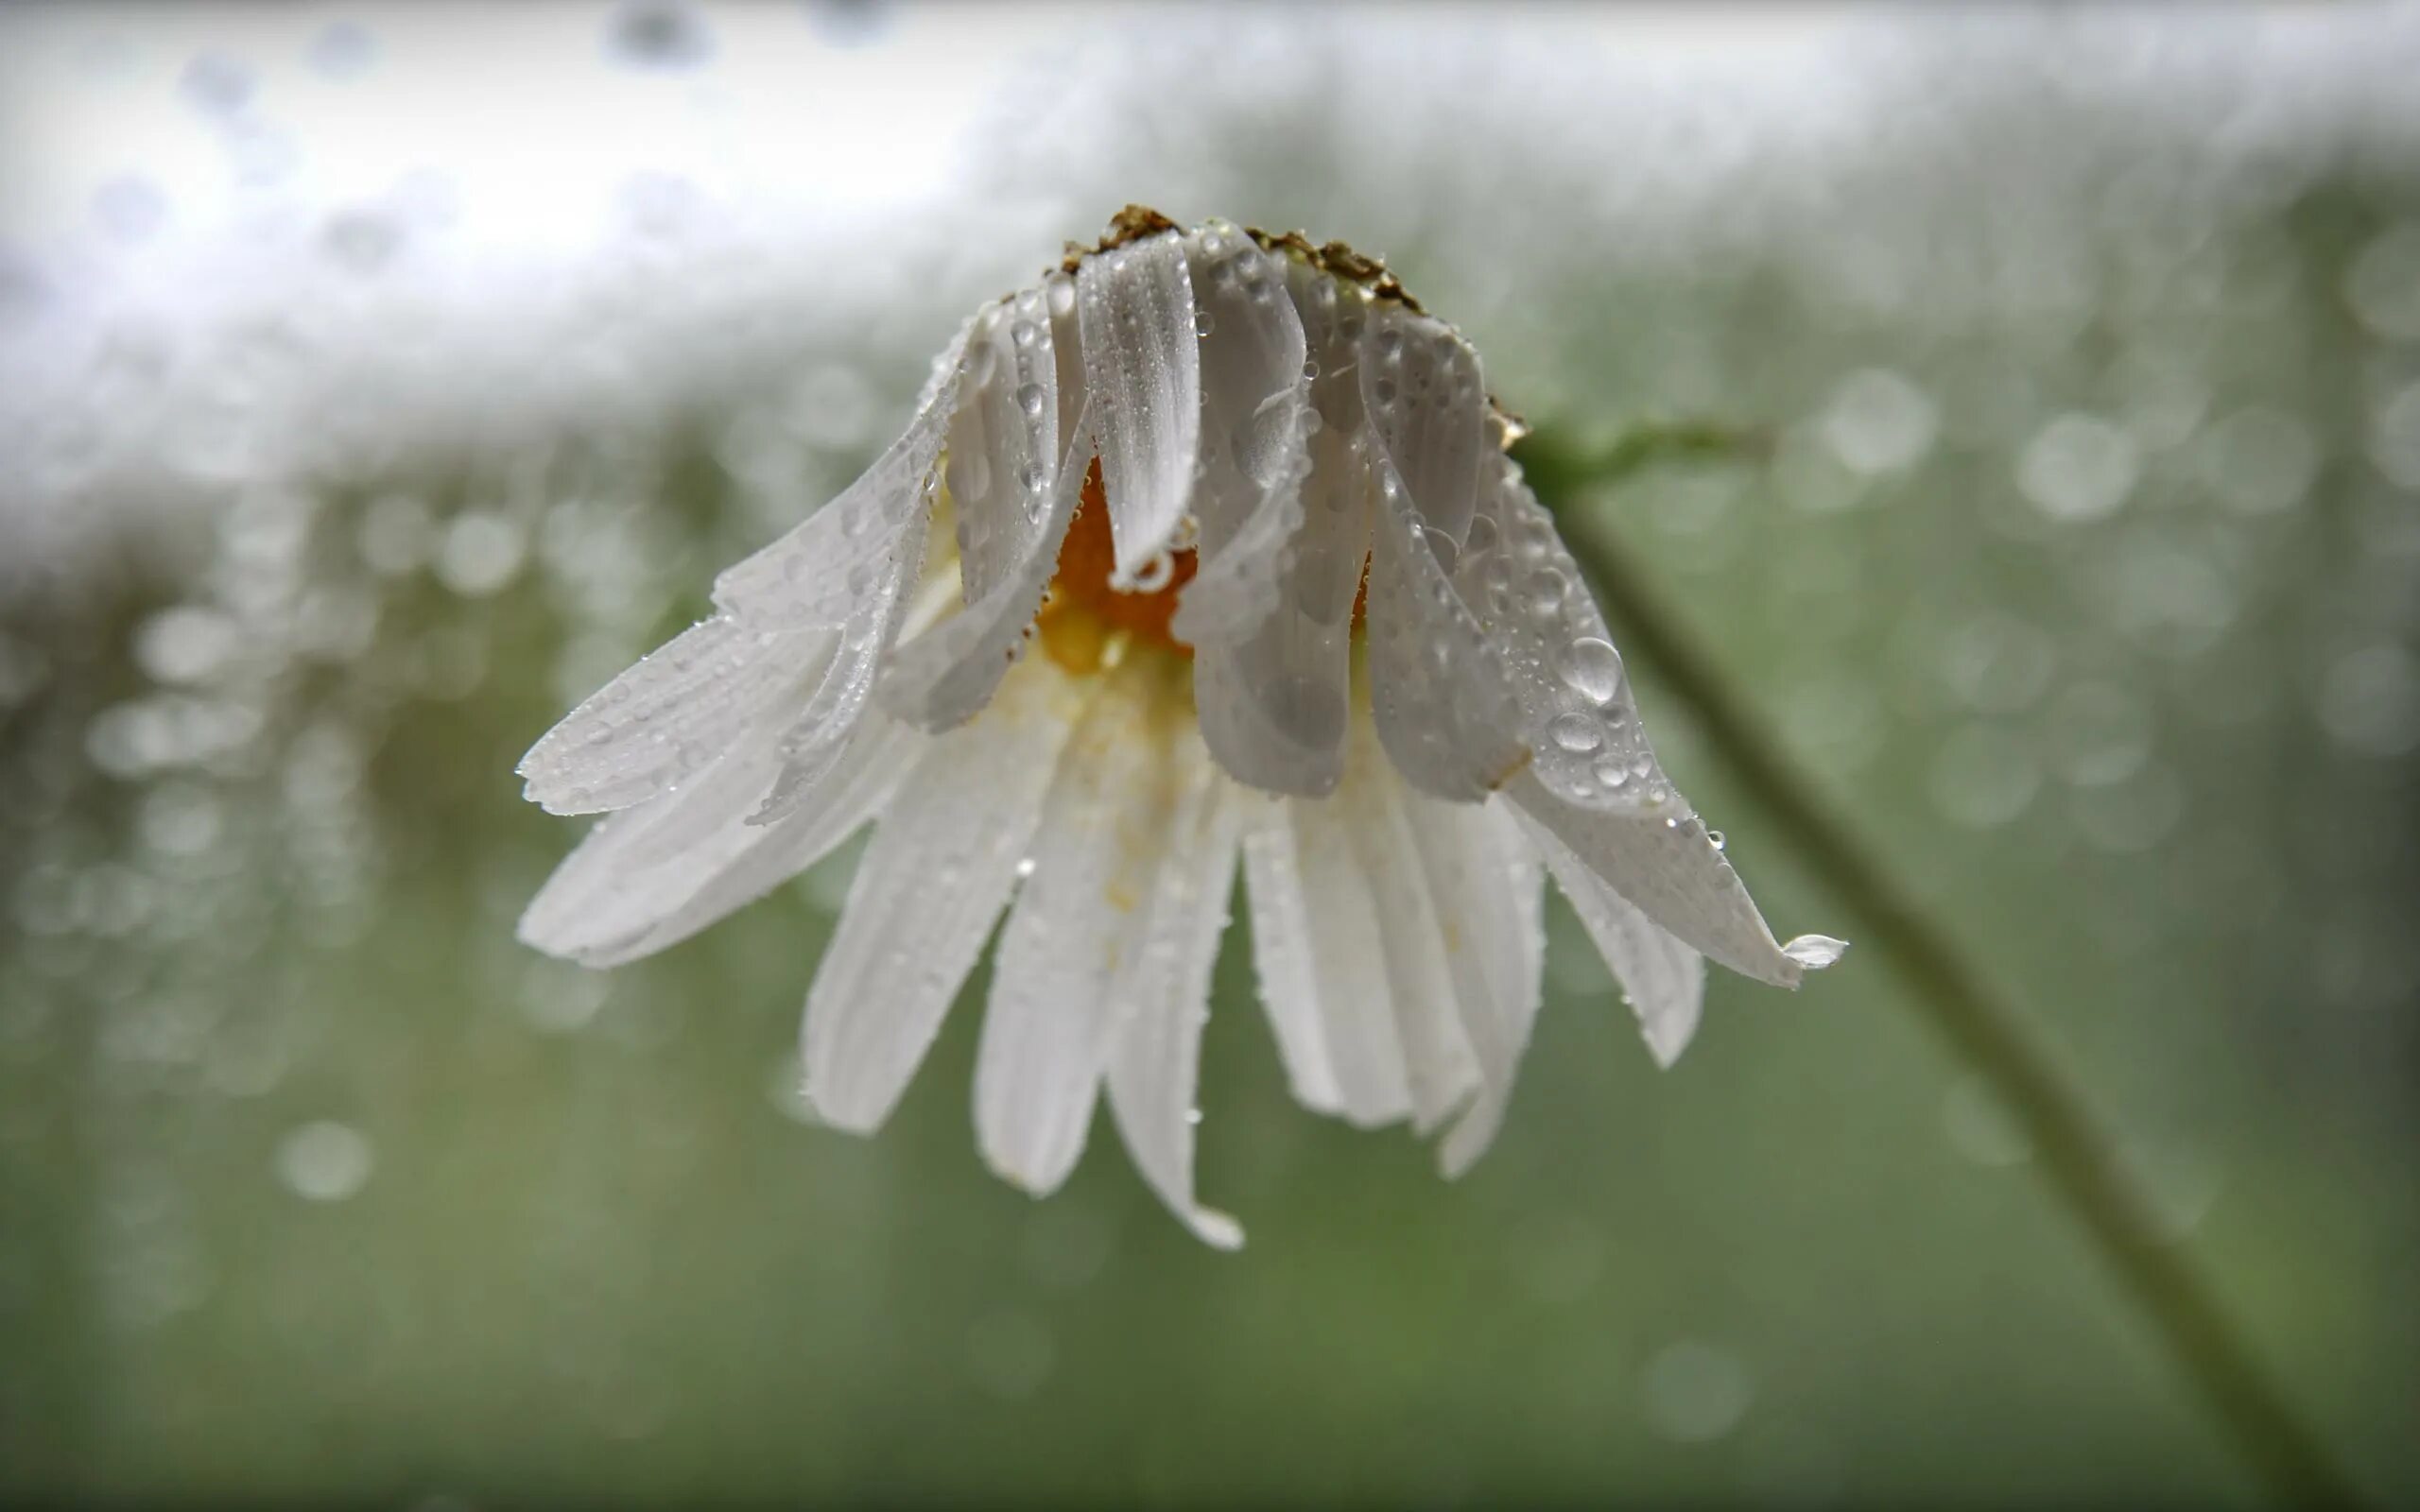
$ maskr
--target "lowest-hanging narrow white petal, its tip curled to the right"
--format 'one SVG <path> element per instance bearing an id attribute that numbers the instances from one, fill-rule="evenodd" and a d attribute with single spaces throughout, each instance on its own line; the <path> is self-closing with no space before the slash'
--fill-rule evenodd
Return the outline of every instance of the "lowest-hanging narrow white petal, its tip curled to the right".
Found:
<path id="1" fill-rule="evenodd" d="M 1125 1021 L 1108 1055 L 1108 1110 L 1145 1181 L 1200 1239 L 1244 1243 L 1244 1229 L 1193 1198 L 1193 1096 L 1210 968 L 1234 885 L 1237 793 L 1198 738 L 1179 735 L 1174 818 L 1140 948 L 1128 951 L 1113 1002 Z"/>

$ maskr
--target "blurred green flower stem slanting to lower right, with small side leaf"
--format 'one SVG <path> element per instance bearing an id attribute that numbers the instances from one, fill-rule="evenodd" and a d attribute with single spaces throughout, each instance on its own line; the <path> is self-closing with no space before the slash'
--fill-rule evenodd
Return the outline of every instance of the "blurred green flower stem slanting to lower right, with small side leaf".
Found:
<path id="1" fill-rule="evenodd" d="M 2016 1115 L 2052 1193 L 2101 1248 L 2229 1442 L 2284 1505 L 2357 1505 L 2350 1481 L 2253 1360 L 2209 1285 L 2161 1231 L 2101 1118 L 2059 1069 L 2028 1016 L 1832 815 L 1815 784 L 1788 762 L 1781 740 L 1733 692 L 1682 612 L 1617 535 L 1571 508 L 1583 489 L 1604 486 L 1665 457 L 1735 460 L 1754 450 L 1762 448 L 1747 433 L 1672 426 L 1634 431 L 1600 450 L 1578 450 L 1558 435 L 1539 433 L 1522 440 L 1515 455 L 1539 501 L 1561 520 L 1573 556 L 1597 578 L 1597 598 L 1614 619 L 1624 656 L 1643 656 L 1663 673 L 1696 716 L 1706 745 L 1764 803 L 1798 859 L 1849 910 L 1854 927 L 1846 934 L 1871 941 L 1900 970 L 1924 1018 Z"/>

